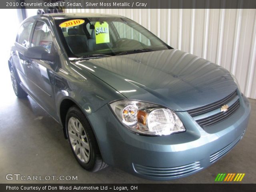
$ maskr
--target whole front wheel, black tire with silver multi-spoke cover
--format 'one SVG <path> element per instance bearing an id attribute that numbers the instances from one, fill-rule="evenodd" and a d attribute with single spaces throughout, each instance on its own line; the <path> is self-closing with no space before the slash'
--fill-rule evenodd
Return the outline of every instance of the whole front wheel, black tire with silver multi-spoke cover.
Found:
<path id="1" fill-rule="evenodd" d="M 100 155 L 92 128 L 77 106 L 68 110 L 66 132 L 72 152 L 84 169 L 96 172 L 107 166 Z"/>

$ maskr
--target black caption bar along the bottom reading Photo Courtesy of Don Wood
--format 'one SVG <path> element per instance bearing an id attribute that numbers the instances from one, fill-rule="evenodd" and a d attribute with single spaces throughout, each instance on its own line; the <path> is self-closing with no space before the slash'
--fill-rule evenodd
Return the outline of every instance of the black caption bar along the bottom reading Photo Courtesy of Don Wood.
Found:
<path id="1" fill-rule="evenodd" d="M 1 192 L 252 192 L 256 184 L 0 184 Z"/>

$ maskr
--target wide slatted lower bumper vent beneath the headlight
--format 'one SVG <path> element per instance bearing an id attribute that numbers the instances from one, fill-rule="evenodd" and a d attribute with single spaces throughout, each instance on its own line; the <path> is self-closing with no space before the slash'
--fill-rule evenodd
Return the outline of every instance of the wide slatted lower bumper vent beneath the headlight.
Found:
<path id="1" fill-rule="evenodd" d="M 184 166 L 170 168 L 148 167 L 137 164 L 133 164 L 133 167 L 138 174 L 153 177 L 176 177 L 196 172 L 202 169 L 200 167 L 200 162 L 194 162 Z"/>

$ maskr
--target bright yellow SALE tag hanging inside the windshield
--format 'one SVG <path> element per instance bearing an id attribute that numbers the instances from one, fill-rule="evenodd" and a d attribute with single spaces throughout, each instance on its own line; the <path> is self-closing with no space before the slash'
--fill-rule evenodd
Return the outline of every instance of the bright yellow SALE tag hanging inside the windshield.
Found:
<path id="1" fill-rule="evenodd" d="M 109 43 L 109 30 L 107 22 L 95 23 L 95 38 L 96 44 Z"/>

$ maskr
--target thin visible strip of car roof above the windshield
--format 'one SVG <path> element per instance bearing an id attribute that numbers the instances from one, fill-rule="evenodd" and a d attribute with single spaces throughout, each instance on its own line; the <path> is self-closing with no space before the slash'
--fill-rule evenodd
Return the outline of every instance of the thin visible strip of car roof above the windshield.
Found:
<path id="1" fill-rule="evenodd" d="M 52 14 L 43 14 L 43 15 L 36 15 L 33 18 L 39 17 L 47 17 L 53 18 L 54 20 L 65 19 L 65 18 L 78 18 L 78 17 L 119 17 L 124 18 L 120 15 L 114 14 L 101 14 L 101 13 L 52 13 Z"/>

